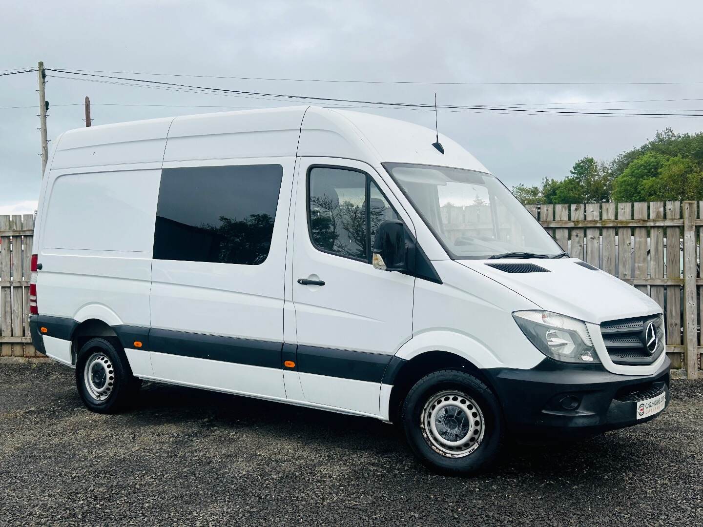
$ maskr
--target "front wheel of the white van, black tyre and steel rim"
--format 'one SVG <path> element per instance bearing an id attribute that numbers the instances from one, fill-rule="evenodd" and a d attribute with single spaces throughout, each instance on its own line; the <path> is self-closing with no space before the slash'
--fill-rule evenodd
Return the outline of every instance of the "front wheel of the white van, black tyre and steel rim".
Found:
<path id="1" fill-rule="evenodd" d="M 447 417 L 451 412 L 453 416 Z M 494 460 L 503 442 L 498 399 L 483 382 L 460 370 L 432 372 L 416 382 L 404 399 L 401 423 L 415 456 L 440 474 L 479 471 Z"/>

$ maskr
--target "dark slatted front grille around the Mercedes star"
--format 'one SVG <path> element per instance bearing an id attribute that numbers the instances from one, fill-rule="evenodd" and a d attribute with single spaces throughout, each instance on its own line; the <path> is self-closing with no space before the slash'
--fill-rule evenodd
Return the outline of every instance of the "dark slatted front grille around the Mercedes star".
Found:
<path id="1" fill-rule="evenodd" d="M 654 352 L 647 348 L 645 332 L 654 324 L 657 346 Z M 637 366 L 652 364 L 664 351 L 664 319 L 662 315 L 610 320 L 600 325 L 605 348 L 615 364 Z"/>

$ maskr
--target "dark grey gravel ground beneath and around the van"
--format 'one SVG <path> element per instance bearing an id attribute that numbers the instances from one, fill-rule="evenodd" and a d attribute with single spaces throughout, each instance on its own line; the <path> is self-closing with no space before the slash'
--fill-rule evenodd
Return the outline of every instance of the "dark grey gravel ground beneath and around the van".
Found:
<path id="1" fill-rule="evenodd" d="M 703 382 L 650 423 L 446 478 L 372 419 L 160 384 L 98 415 L 73 375 L 0 365 L 1 525 L 703 526 Z"/>

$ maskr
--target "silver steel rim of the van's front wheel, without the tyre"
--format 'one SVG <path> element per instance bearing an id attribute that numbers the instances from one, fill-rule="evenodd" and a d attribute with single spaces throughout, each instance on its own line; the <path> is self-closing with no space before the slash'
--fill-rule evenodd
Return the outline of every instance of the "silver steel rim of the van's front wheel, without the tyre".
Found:
<path id="1" fill-rule="evenodd" d="M 420 414 L 425 442 L 444 457 L 475 452 L 484 437 L 486 421 L 476 401 L 458 390 L 443 390 L 427 399 Z"/>

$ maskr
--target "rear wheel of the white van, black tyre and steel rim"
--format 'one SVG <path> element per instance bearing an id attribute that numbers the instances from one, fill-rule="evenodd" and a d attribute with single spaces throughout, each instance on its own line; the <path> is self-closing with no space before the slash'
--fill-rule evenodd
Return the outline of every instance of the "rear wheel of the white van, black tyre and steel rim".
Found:
<path id="1" fill-rule="evenodd" d="M 86 385 L 86 368 L 92 367 L 91 386 Z M 104 384 L 103 384 L 104 381 Z M 101 388 L 101 393 L 95 386 Z M 101 414 L 120 412 L 129 406 L 139 388 L 127 356 L 119 343 L 94 337 L 87 341 L 76 360 L 76 386 L 86 407 Z"/>

